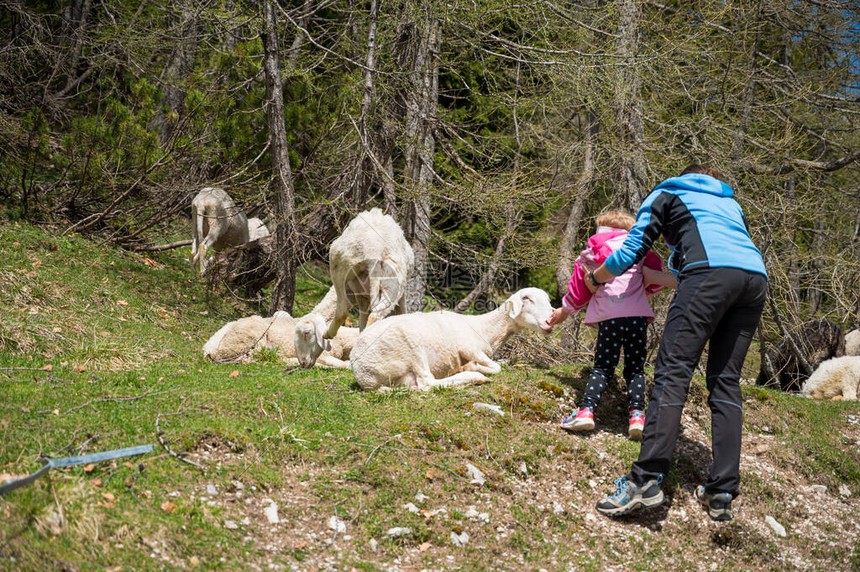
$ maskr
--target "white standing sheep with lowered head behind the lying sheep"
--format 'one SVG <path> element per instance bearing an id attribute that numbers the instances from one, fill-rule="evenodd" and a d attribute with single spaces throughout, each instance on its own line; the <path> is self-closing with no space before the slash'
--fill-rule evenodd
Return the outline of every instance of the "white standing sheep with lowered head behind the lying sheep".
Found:
<path id="1" fill-rule="evenodd" d="M 412 271 L 414 254 L 403 230 L 389 215 L 374 208 L 356 216 L 329 249 L 329 272 L 337 299 L 334 316 L 323 322 L 308 316 L 296 329 L 294 346 L 299 362 L 311 367 L 322 353 L 325 340 L 332 339 L 343 325 L 350 308 L 358 306 L 358 329 L 406 307 L 406 278 Z"/>

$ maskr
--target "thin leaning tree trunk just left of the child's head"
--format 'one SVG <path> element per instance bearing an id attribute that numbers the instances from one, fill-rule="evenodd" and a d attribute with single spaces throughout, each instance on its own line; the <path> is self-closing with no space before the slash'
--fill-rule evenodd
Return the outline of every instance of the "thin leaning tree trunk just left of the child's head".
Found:
<path id="1" fill-rule="evenodd" d="M 583 133 L 583 157 L 582 173 L 579 180 L 573 185 L 573 204 L 567 215 L 567 221 L 561 233 L 561 244 L 559 245 L 558 265 L 555 269 L 555 282 L 558 287 L 559 297 L 567 292 L 567 283 L 573 274 L 574 252 L 576 252 L 576 233 L 582 220 L 582 212 L 585 202 L 591 192 L 591 179 L 594 176 L 594 136 L 597 131 L 597 119 L 594 113 L 589 111 L 586 115 L 587 125 Z"/>

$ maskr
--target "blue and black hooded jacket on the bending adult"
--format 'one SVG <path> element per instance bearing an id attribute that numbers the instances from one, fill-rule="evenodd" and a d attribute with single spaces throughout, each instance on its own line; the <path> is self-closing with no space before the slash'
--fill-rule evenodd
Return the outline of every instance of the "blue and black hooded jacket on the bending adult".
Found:
<path id="1" fill-rule="evenodd" d="M 676 275 L 699 268 L 730 267 L 767 276 L 761 252 L 750 239 L 732 188 L 710 175 L 689 173 L 666 179 L 636 214 L 624 244 L 606 259 L 615 276 L 630 268 L 661 234 L 672 249 Z"/>

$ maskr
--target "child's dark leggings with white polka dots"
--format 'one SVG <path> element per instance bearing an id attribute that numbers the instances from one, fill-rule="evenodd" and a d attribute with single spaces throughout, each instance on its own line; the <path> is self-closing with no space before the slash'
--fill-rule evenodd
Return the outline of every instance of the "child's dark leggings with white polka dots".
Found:
<path id="1" fill-rule="evenodd" d="M 627 404 L 630 409 L 645 410 L 645 353 L 648 318 L 635 316 L 613 318 L 597 325 L 597 346 L 594 348 L 594 369 L 588 376 L 585 395 L 580 407 L 594 409 L 606 384 L 612 379 L 615 366 L 624 348 L 624 380 L 627 382 Z"/>

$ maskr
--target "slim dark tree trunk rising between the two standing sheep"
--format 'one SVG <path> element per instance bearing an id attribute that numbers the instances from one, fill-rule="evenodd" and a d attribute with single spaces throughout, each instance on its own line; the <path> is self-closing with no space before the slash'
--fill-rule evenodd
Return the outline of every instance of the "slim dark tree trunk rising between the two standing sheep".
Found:
<path id="1" fill-rule="evenodd" d="M 266 121 L 269 126 L 269 152 L 272 179 L 269 192 L 275 216 L 275 285 L 272 288 L 271 312 L 293 311 L 296 293 L 296 215 L 293 174 L 290 169 L 287 129 L 284 124 L 284 92 L 281 83 L 280 48 L 274 0 L 263 0 L 265 33 L 264 71 L 266 74 Z"/>

